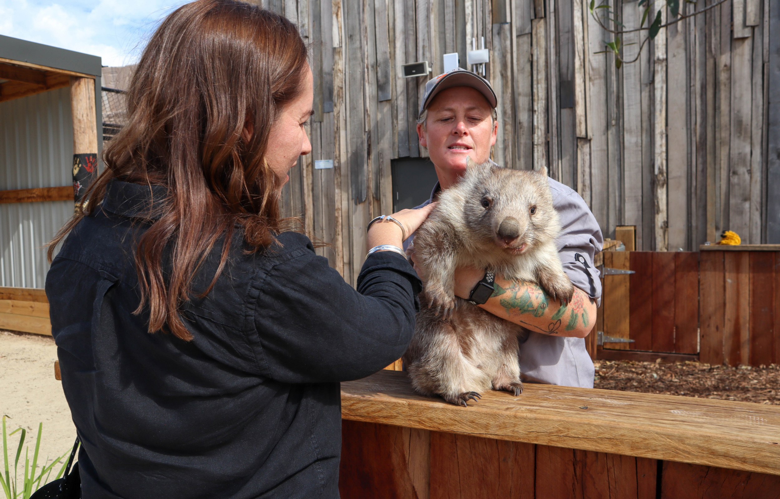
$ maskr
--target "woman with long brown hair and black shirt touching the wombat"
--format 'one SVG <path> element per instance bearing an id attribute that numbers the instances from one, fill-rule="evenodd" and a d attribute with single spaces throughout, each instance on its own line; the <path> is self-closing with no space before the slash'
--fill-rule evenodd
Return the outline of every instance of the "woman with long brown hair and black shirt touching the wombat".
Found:
<path id="1" fill-rule="evenodd" d="M 82 497 L 338 497 L 339 381 L 399 358 L 420 281 L 371 226 L 357 289 L 279 214 L 311 150 L 307 48 L 236 0 L 168 16 L 129 124 L 51 242 L 46 292 Z"/>

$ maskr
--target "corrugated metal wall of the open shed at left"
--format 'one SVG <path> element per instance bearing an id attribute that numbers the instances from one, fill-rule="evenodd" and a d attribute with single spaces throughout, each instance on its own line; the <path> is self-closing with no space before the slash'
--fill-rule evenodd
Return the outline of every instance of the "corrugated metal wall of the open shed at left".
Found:
<path id="1" fill-rule="evenodd" d="M 0 103 L 0 190 L 69 186 L 70 89 Z M 0 204 L 0 286 L 43 288 L 48 242 L 73 201 Z"/>

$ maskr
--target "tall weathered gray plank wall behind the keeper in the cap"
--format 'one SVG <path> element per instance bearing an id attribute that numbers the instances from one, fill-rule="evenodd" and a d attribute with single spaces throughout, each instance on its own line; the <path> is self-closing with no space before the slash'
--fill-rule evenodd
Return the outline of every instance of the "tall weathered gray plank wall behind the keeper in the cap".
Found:
<path id="1" fill-rule="evenodd" d="M 729 0 L 662 29 L 616 69 L 596 53 L 612 35 L 584 0 L 252 1 L 293 19 L 311 44 L 314 150 L 285 188 L 286 213 L 332 244 L 321 252 L 348 281 L 366 222 L 392 211 L 391 161 L 427 155 L 415 129 L 427 78 L 445 53 L 465 66 L 481 37 L 498 94 L 495 161 L 548 165 L 606 236 L 636 225 L 637 250 L 696 250 L 726 228 L 780 242 L 776 2 Z M 610 1 L 617 22 L 638 25 L 636 1 Z M 623 58 L 645 33 L 624 37 Z M 425 60 L 431 75 L 402 77 L 402 64 Z"/>

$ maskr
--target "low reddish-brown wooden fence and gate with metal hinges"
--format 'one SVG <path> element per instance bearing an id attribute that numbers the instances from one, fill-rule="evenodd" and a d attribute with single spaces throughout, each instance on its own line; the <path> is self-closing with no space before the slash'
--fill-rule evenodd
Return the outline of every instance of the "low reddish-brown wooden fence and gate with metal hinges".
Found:
<path id="1" fill-rule="evenodd" d="M 620 357 L 608 350 L 683 354 L 731 366 L 780 363 L 780 246 L 704 248 L 605 252 L 605 267 L 634 274 L 605 276 L 596 329 L 633 342 L 597 350 L 593 334 L 590 351 L 605 358 Z"/>

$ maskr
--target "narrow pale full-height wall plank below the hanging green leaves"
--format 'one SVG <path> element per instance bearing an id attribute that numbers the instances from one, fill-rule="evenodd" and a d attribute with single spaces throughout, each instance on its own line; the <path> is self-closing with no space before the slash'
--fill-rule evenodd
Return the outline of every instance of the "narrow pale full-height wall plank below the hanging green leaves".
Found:
<path id="1" fill-rule="evenodd" d="M 661 24 L 666 9 L 661 6 Z M 655 250 L 668 250 L 666 157 L 666 28 L 653 39 L 653 165 L 655 175 Z"/>

